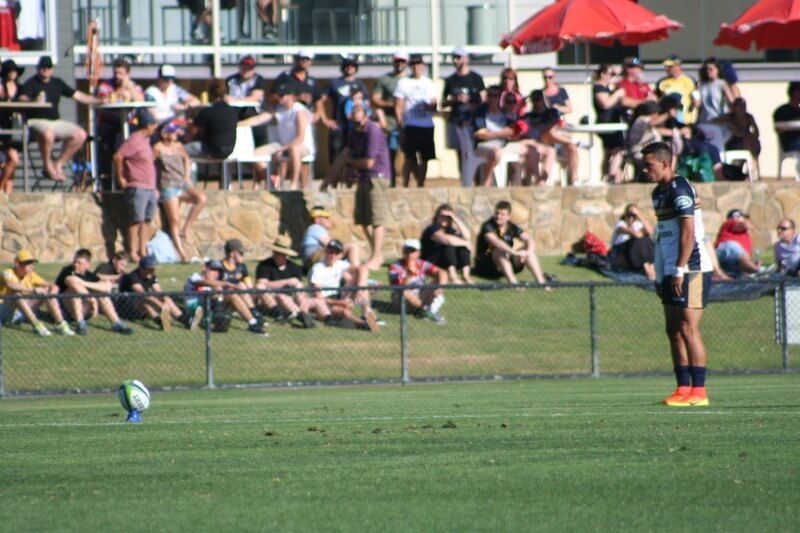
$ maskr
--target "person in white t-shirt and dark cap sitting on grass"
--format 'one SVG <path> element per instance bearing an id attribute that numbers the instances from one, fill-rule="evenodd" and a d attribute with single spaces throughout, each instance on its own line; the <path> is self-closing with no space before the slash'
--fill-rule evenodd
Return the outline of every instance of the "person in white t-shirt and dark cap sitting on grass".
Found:
<path id="1" fill-rule="evenodd" d="M 316 289 L 315 296 L 323 298 L 330 307 L 335 325 L 378 331 L 378 320 L 364 291 L 345 290 L 347 287 L 364 287 L 369 270 L 365 265 L 355 266 L 342 259 L 344 245 L 337 239 L 325 247 L 325 258 L 311 267 L 308 280 Z M 362 318 L 353 314 L 353 308 L 361 306 Z M 327 323 L 327 322 L 326 322 Z"/>

